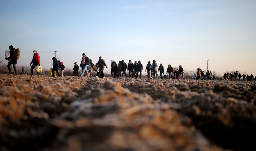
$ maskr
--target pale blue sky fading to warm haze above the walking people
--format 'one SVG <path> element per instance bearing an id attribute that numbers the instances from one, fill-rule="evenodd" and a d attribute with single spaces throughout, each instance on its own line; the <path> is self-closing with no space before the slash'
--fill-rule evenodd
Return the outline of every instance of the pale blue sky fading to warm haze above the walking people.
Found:
<path id="1" fill-rule="evenodd" d="M 48 69 L 57 51 L 66 68 L 85 53 L 94 64 L 105 59 L 105 70 L 110 60 L 140 60 L 144 71 L 156 60 L 186 72 L 207 69 L 209 59 L 210 71 L 255 76 L 255 7 L 255 0 L 2 0 L 0 58 L 13 45 L 20 66 L 36 50 Z"/>

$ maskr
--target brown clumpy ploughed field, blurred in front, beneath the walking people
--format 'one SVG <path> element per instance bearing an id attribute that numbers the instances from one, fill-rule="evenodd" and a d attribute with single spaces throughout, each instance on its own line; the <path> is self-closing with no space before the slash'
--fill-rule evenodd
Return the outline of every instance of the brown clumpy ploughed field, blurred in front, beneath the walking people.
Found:
<path id="1" fill-rule="evenodd" d="M 0 75 L 0 84 L 1 151 L 256 150 L 255 81 Z"/>

